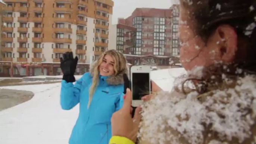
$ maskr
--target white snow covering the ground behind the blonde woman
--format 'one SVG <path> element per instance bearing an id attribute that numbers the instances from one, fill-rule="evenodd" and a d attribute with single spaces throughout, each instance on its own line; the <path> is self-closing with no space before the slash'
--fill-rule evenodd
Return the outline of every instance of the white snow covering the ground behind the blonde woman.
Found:
<path id="1" fill-rule="evenodd" d="M 152 71 L 152 79 L 169 91 L 174 78 L 184 73 L 183 68 Z M 0 112 L 0 144 L 68 144 L 79 109 L 61 109 L 60 83 L 0 88 L 35 94 L 31 100 Z"/>

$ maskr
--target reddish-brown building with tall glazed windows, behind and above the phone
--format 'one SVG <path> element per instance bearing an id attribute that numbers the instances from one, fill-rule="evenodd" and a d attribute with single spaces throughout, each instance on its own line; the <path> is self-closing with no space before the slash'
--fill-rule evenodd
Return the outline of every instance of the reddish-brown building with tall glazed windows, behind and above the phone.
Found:
<path id="1" fill-rule="evenodd" d="M 164 68 L 170 61 L 172 65 L 179 63 L 177 54 L 172 55 L 173 15 L 173 9 L 135 9 L 131 16 L 119 18 L 118 24 L 111 26 L 110 47 L 124 53 L 132 65 Z"/>

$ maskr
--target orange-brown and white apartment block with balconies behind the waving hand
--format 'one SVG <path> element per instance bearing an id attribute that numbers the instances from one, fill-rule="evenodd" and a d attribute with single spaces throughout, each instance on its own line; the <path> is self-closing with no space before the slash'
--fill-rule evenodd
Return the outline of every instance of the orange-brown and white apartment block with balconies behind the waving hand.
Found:
<path id="1" fill-rule="evenodd" d="M 61 74 L 59 58 L 72 51 L 76 74 L 108 49 L 112 0 L 3 0 L 1 76 Z"/>

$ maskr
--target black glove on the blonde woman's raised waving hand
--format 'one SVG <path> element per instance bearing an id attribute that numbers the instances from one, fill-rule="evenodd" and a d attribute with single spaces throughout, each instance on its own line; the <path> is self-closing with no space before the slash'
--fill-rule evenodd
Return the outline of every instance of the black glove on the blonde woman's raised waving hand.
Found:
<path id="1" fill-rule="evenodd" d="M 66 82 L 75 82 L 75 69 L 77 68 L 78 57 L 75 59 L 72 52 L 66 52 L 63 54 L 63 58 L 60 57 L 60 68 L 63 72 L 63 80 Z"/>

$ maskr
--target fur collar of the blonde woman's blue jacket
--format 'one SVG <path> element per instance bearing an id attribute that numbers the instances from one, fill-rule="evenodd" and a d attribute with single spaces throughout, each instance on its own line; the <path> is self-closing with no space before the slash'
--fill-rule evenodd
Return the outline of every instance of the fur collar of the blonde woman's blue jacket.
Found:
<path id="1" fill-rule="evenodd" d="M 91 63 L 90 65 L 90 74 L 91 76 L 93 76 L 94 72 L 93 69 L 96 66 L 97 61 Z M 118 75 L 116 76 L 110 76 L 109 78 L 107 78 L 107 84 L 109 85 L 119 85 L 119 84 L 124 84 L 124 78 L 123 75 L 124 73 L 127 74 L 127 76 L 129 77 L 129 71 L 128 71 L 128 67 L 126 66 L 125 70 L 122 72 L 119 72 Z"/>

